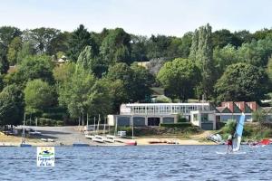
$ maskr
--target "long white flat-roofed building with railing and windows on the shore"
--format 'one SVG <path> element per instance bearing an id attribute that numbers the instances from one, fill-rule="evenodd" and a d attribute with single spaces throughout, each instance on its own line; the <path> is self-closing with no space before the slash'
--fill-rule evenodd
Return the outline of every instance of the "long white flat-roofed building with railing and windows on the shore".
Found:
<path id="1" fill-rule="evenodd" d="M 191 112 L 208 112 L 214 114 L 214 108 L 210 107 L 209 102 L 205 103 L 132 103 L 122 104 L 120 115 L 109 115 L 108 120 L 111 125 L 117 123 L 119 126 L 159 126 L 160 123 L 177 123 L 178 117 L 186 118 L 191 121 Z M 201 115 L 201 113 L 198 112 Z M 199 117 L 201 118 L 201 117 Z M 203 117 L 204 118 L 204 117 Z M 205 119 L 205 125 L 199 122 L 191 121 L 202 128 L 215 129 L 215 117 L 208 116 Z M 132 121 L 133 120 L 133 121 Z M 209 125 L 207 127 L 207 125 Z"/>

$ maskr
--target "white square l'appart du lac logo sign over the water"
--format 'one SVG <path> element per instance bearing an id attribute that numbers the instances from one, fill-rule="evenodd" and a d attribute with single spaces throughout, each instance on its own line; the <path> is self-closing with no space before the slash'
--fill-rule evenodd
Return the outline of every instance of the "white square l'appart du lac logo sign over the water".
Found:
<path id="1" fill-rule="evenodd" d="M 37 167 L 54 167 L 53 147 L 37 147 Z"/>

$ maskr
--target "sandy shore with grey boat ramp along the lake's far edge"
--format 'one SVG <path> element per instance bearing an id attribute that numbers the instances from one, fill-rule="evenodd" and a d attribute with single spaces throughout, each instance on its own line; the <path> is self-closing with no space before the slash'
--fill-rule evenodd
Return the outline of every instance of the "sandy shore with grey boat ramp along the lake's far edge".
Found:
<path id="1" fill-rule="evenodd" d="M 37 131 L 42 132 L 42 136 L 26 138 L 25 142 L 32 146 L 72 146 L 74 142 L 89 144 L 90 146 L 121 146 L 122 143 L 96 143 L 91 139 L 85 138 L 78 127 L 38 127 Z M 137 145 L 216 145 L 211 141 L 204 141 L 204 135 L 196 135 L 191 138 L 165 138 L 165 137 L 144 137 L 134 138 Z M 44 142 L 41 138 L 53 139 L 53 142 Z M 124 140 L 130 141 L 131 139 Z M 0 147 L 1 146 L 19 146 L 22 138 L 20 136 L 6 136 L 0 132 Z"/>

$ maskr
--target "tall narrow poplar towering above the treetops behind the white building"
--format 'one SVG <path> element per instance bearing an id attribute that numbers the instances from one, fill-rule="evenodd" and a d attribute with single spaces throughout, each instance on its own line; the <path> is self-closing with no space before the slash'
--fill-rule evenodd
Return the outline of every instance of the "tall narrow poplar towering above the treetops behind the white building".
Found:
<path id="1" fill-rule="evenodd" d="M 207 99 L 213 95 L 213 85 L 215 83 L 215 66 L 212 59 L 212 39 L 211 26 L 199 27 L 192 38 L 192 45 L 189 53 L 189 59 L 196 62 L 201 71 L 202 81 L 199 87 L 199 96 L 201 94 Z"/>

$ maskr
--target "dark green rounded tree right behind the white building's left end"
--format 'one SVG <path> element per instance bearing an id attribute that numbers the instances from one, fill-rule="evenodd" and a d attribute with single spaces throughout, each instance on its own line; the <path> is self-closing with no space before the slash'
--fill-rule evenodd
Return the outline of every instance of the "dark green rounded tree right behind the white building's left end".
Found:
<path id="1" fill-rule="evenodd" d="M 132 64 L 131 67 L 124 62 L 110 66 L 105 78 L 110 82 L 114 110 L 118 111 L 121 103 L 144 101 L 145 96 L 151 95 L 153 78 L 149 71 Z"/>

